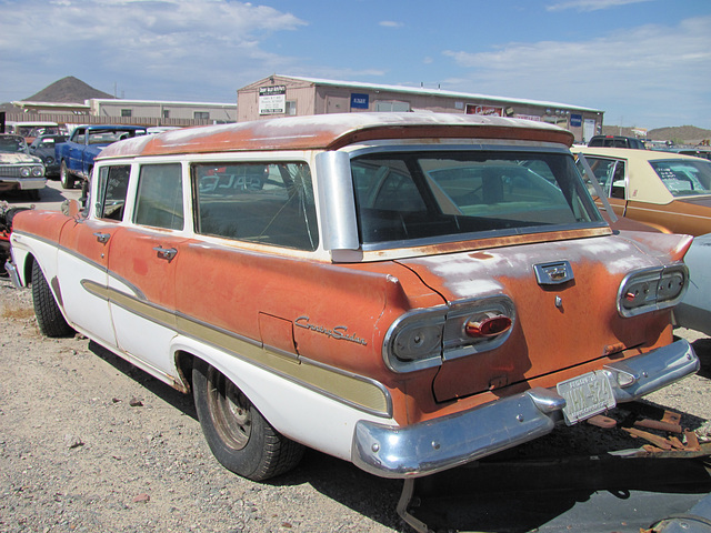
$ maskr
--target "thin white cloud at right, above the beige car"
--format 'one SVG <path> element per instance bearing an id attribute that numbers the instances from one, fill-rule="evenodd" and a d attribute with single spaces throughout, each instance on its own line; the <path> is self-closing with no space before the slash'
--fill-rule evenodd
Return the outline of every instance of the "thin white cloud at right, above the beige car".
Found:
<path id="1" fill-rule="evenodd" d="M 467 89 L 449 84 L 455 90 L 591 107 L 618 119 L 633 120 L 634 110 L 645 107 L 693 120 L 697 113 L 711 115 L 710 33 L 711 17 L 699 17 L 588 41 L 512 42 L 488 52 L 443 53 L 470 71 Z"/>

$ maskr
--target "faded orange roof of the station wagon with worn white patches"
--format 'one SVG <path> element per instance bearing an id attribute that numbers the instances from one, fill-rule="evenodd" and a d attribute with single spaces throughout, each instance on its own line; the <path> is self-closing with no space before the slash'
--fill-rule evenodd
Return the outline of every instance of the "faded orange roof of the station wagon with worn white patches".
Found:
<path id="1" fill-rule="evenodd" d="M 337 150 L 387 139 L 508 139 L 570 147 L 568 130 L 543 122 L 447 113 L 340 113 L 168 131 L 116 142 L 100 159 L 256 150 Z M 99 159 L 99 158 L 98 158 Z"/>

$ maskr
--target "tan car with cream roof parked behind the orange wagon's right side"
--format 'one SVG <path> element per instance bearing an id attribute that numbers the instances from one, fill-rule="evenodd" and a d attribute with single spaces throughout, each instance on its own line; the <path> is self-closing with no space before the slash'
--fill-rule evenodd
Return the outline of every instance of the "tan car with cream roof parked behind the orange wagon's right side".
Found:
<path id="1" fill-rule="evenodd" d="M 711 233 L 711 161 L 670 152 L 573 147 L 620 218 L 663 232 Z M 584 163 L 578 168 L 584 173 Z"/>

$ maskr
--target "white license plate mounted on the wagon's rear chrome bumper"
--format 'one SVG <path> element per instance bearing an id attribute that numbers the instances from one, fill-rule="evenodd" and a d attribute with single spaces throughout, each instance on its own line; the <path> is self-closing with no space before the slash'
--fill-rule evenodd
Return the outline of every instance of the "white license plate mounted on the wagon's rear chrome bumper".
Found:
<path id="1" fill-rule="evenodd" d="M 558 384 L 558 394 L 565 399 L 563 416 L 568 425 L 600 414 L 615 405 L 612 386 L 602 372 L 590 372 Z"/>

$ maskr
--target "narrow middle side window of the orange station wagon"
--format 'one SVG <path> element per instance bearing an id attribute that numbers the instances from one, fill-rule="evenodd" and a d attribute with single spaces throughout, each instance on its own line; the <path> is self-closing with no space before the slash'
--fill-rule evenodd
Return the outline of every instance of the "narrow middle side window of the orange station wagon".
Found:
<path id="1" fill-rule="evenodd" d="M 183 220 L 180 163 L 142 165 L 133 222 L 152 228 L 182 230 Z"/>

